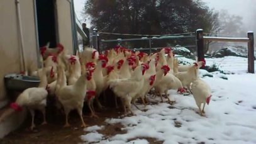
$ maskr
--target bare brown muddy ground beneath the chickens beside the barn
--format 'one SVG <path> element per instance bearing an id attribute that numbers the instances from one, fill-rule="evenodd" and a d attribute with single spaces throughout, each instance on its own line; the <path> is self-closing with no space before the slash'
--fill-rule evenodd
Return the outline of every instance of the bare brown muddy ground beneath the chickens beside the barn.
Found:
<path id="1" fill-rule="evenodd" d="M 113 136 L 118 133 L 126 133 L 121 131 L 121 124 L 108 125 L 105 123 L 107 118 L 118 118 L 121 115 L 121 109 L 108 108 L 107 110 L 98 111 L 99 118 L 89 118 L 89 111 L 84 109 L 84 121 L 87 126 L 104 125 L 105 128 L 99 133 L 105 136 Z M 76 111 L 72 111 L 69 114 L 70 128 L 63 128 L 65 122 L 65 116 L 57 113 L 57 109 L 47 108 L 47 125 L 40 125 L 42 123 L 42 114 L 36 112 L 35 116 L 35 130 L 29 129 L 31 124 L 31 117 L 28 114 L 28 118 L 25 123 L 16 131 L 9 133 L 3 140 L 0 140 L 2 144 L 9 143 L 81 143 L 81 135 L 85 135 L 86 131 L 81 128 L 81 120 Z"/>

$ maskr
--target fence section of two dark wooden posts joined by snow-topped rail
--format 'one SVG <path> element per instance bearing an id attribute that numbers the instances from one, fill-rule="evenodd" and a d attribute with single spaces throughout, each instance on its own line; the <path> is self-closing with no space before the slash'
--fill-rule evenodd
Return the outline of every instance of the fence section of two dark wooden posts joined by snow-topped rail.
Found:
<path id="1" fill-rule="evenodd" d="M 203 30 L 196 30 L 196 43 L 198 47 L 198 60 L 204 60 L 204 41 L 218 42 L 247 42 L 248 43 L 248 72 L 254 74 L 254 42 L 253 32 L 248 31 L 247 38 L 230 38 L 230 37 L 215 37 L 203 36 Z"/>

